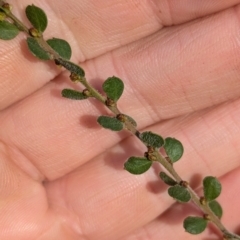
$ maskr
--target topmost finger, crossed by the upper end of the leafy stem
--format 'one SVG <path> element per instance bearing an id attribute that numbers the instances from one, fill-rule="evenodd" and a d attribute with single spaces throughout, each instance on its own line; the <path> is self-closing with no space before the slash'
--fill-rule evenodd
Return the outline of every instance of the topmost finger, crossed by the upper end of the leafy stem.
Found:
<path id="1" fill-rule="evenodd" d="M 109 1 L 102 0 L 81 4 L 68 1 L 67 5 L 64 1 L 58 1 L 58 5 L 52 1 L 37 4 L 49 17 L 45 38 L 66 39 L 74 49 L 73 59 L 83 61 L 147 36 L 164 24 L 189 21 L 231 7 L 239 0 L 211 1 L 208 4 L 206 1 L 190 2 L 191 4 L 189 1 L 111 1 L 109 4 Z M 23 15 L 18 12 L 24 6 L 23 1 L 13 2 L 13 6 L 17 16 Z M 19 47 L 20 39 L 21 36 L 10 43 L 1 42 L 1 56 L 5 57 L 0 62 L 0 75 L 4 76 L 0 81 L 0 109 L 39 89 L 59 73 L 52 66 L 50 68 L 42 62 L 36 63 L 25 42 Z"/>

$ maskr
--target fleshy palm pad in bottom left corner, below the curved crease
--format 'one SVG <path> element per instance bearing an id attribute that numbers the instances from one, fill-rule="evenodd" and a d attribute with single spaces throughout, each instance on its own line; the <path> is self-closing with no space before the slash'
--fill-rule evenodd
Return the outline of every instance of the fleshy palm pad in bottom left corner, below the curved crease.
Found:
<path id="1" fill-rule="evenodd" d="M 19 169 L 8 150 L 0 142 L 0 238 L 37 239 L 53 225 L 54 215 L 47 212 L 48 202 L 42 184 L 32 180 L 25 169 Z"/>

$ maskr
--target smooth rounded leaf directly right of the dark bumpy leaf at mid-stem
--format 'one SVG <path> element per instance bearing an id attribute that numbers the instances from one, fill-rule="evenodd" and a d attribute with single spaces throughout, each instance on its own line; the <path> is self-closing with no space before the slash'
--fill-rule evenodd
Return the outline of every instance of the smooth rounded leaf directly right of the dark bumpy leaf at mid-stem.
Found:
<path id="1" fill-rule="evenodd" d="M 173 163 L 178 161 L 183 155 L 183 145 L 175 138 L 166 138 L 163 148 Z"/>

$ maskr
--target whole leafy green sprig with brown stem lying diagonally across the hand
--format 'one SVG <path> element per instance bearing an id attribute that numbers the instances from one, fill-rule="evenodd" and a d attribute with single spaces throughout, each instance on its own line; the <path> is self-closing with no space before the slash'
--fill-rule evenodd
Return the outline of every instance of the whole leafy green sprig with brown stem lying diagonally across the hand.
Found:
<path id="1" fill-rule="evenodd" d="M 63 89 L 62 97 L 75 101 L 86 101 L 86 99 L 99 101 L 108 109 L 107 114 L 96 119 L 103 128 L 114 132 L 128 131 L 141 141 L 142 154 L 129 156 L 123 168 L 131 174 L 140 175 L 148 171 L 154 163 L 159 163 L 161 165 L 161 170 L 158 173 L 159 181 L 166 184 L 169 199 L 173 198 L 182 204 L 191 202 L 201 210 L 198 215 L 193 214 L 183 219 L 183 228 L 186 232 L 194 235 L 200 234 L 209 224 L 212 224 L 219 230 L 223 239 L 240 239 L 240 236 L 230 232 L 221 222 L 223 210 L 216 200 L 222 190 L 219 180 L 214 176 L 204 177 L 202 179 L 202 193 L 196 192 L 191 181 L 180 176 L 175 168 L 175 163 L 182 158 L 184 152 L 182 143 L 174 136 L 163 137 L 152 131 L 140 131 L 137 128 L 137 121 L 129 116 L 129 113 L 126 114 L 119 109 L 118 101 L 124 92 L 124 83 L 119 77 L 107 78 L 102 84 L 102 89 L 97 90 L 85 78 L 84 70 L 70 60 L 72 50 L 67 41 L 57 37 L 44 38 L 43 33 L 47 27 L 48 19 L 41 8 L 35 5 L 26 7 L 25 13 L 32 25 L 31 27 L 28 27 L 29 23 L 24 24 L 14 15 L 9 3 L 0 1 L 0 9 L 0 39 L 11 40 L 20 32 L 24 33 L 27 36 L 28 49 L 36 58 L 43 61 L 53 61 L 57 65 L 54 67 L 66 69 L 70 73 L 70 80 L 83 86 L 82 91 L 70 88 Z M 151 93 L 149 94 L 151 95 Z M 184 164 L 184 160 L 182 164 Z M 131 208 L 129 208 L 129 213 L 131 214 Z"/>

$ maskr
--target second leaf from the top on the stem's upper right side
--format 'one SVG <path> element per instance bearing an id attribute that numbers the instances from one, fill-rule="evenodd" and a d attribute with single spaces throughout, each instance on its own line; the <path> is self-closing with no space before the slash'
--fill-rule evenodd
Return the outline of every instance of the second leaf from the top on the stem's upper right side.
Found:
<path id="1" fill-rule="evenodd" d="M 54 49 L 62 58 L 69 60 L 72 55 L 72 49 L 69 43 L 63 39 L 52 38 L 47 40 L 47 43 Z"/>

